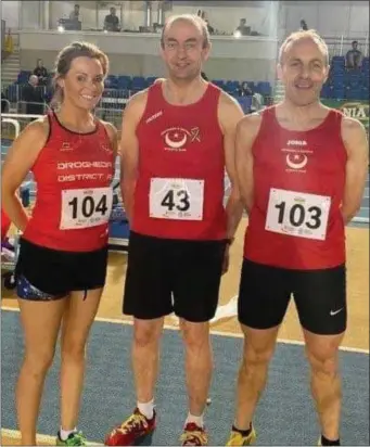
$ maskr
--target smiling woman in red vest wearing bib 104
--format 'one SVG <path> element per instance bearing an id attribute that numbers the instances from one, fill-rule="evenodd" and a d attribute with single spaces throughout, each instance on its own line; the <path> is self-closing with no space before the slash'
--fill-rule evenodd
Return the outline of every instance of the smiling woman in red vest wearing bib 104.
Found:
<path id="1" fill-rule="evenodd" d="M 15 276 L 25 358 L 17 389 L 22 445 L 36 445 L 43 382 L 62 325 L 61 429 L 56 445 L 86 445 L 76 430 L 85 345 L 102 295 L 107 263 L 117 136 L 95 119 L 109 60 L 75 42 L 56 59 L 58 113 L 35 120 L 10 149 L 2 205 L 23 232 Z M 16 191 L 31 170 L 37 199 L 29 217 Z"/>

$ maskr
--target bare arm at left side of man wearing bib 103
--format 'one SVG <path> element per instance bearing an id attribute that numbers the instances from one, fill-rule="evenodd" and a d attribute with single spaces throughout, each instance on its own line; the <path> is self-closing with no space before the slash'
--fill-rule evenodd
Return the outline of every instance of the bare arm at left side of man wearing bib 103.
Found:
<path id="1" fill-rule="evenodd" d="M 261 116 L 256 113 L 245 116 L 238 125 L 235 138 L 237 181 L 247 213 L 253 206 L 253 143 L 257 137 Z"/>

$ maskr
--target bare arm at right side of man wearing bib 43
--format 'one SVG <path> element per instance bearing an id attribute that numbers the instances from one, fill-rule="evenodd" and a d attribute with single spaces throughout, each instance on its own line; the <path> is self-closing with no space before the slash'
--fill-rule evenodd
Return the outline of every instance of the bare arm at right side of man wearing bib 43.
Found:
<path id="1" fill-rule="evenodd" d="M 227 213 L 227 239 L 231 241 L 235 234 L 243 214 L 243 203 L 239 193 L 235 169 L 235 131 L 238 123 L 244 113 L 239 103 L 226 93 L 221 93 L 218 116 L 224 131 L 224 150 L 226 170 L 230 180 L 231 192 L 226 205 Z"/>

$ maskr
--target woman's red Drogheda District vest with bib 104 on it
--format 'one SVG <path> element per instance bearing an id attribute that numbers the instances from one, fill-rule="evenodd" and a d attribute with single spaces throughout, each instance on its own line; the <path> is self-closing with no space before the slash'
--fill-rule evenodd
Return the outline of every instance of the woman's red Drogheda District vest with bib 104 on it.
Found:
<path id="1" fill-rule="evenodd" d="M 31 171 L 36 204 L 23 238 L 49 248 L 89 252 L 107 243 L 114 153 L 102 123 L 90 133 L 49 115 L 49 139 Z"/>

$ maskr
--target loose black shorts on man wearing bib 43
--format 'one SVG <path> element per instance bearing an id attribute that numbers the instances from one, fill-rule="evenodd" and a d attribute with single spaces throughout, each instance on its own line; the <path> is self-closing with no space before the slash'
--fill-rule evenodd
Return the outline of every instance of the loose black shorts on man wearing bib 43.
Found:
<path id="1" fill-rule="evenodd" d="M 124 314 L 154 319 L 174 311 L 187 321 L 209 321 L 218 305 L 225 246 L 131 232 Z"/>

